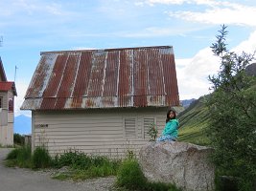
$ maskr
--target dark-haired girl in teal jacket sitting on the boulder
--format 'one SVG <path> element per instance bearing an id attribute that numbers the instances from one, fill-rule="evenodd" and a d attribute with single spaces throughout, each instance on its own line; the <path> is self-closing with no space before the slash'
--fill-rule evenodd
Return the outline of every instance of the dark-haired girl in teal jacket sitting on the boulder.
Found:
<path id="1" fill-rule="evenodd" d="M 157 138 L 156 141 L 175 141 L 177 139 L 177 128 L 178 120 L 176 119 L 176 114 L 174 110 L 170 110 L 167 113 L 165 128 L 162 132 L 160 138 Z"/>

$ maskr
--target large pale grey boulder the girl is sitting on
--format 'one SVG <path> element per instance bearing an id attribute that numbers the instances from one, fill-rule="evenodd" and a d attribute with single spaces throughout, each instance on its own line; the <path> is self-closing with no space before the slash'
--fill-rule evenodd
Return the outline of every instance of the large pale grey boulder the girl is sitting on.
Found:
<path id="1" fill-rule="evenodd" d="M 148 180 L 172 182 L 184 191 L 212 191 L 214 166 L 207 158 L 212 151 L 186 142 L 149 142 L 139 162 Z"/>

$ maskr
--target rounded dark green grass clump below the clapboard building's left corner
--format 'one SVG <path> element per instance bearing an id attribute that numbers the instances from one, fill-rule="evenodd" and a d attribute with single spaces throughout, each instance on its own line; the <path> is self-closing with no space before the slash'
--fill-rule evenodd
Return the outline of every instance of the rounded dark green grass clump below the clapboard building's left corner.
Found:
<path id="1" fill-rule="evenodd" d="M 51 166 L 52 159 L 45 147 L 36 147 L 33 155 L 34 168 L 48 168 Z"/>

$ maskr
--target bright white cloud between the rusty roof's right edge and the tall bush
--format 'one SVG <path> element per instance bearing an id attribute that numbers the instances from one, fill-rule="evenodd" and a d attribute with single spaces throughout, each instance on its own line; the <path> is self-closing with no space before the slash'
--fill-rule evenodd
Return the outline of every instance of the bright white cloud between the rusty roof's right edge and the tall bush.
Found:
<path id="1" fill-rule="evenodd" d="M 179 98 L 189 99 L 210 93 L 208 76 L 216 74 L 220 62 L 210 48 L 199 51 L 193 58 L 176 59 Z"/>

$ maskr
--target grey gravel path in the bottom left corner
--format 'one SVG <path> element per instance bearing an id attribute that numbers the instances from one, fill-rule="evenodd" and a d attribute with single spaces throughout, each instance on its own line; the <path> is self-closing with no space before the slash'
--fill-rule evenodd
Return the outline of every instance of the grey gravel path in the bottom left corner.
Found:
<path id="1" fill-rule="evenodd" d="M 51 179 L 49 173 L 21 168 L 7 168 L 3 160 L 11 149 L 0 148 L 1 191 L 107 191 L 115 178 L 80 182 Z"/>

